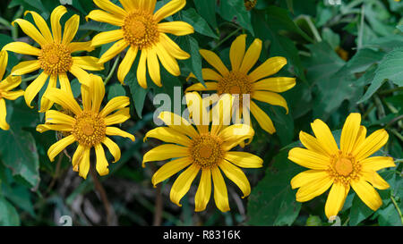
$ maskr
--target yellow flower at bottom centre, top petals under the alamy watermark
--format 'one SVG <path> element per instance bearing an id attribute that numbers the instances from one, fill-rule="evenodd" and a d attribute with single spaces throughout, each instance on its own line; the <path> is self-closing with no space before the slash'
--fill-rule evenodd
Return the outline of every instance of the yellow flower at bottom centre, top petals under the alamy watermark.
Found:
<path id="1" fill-rule="evenodd" d="M 190 97 L 193 97 L 193 102 L 191 102 Z M 221 101 L 225 101 L 223 98 L 221 99 Z M 198 104 L 201 111 L 204 110 L 204 113 L 207 113 L 201 105 L 202 100 L 199 94 L 188 93 L 186 100 L 188 108 L 193 104 Z M 227 109 L 223 110 L 227 111 Z M 194 118 L 194 113 L 192 116 Z M 181 206 L 181 198 L 190 189 L 193 180 L 200 171 L 201 180 L 194 198 L 195 211 L 197 212 L 203 211 L 210 201 L 211 179 L 216 206 L 222 212 L 229 210 L 227 186 L 221 171 L 242 190 L 244 198 L 250 194 L 249 181 L 239 167 L 262 167 L 262 159 L 250 153 L 230 150 L 241 141 L 253 138 L 252 127 L 243 124 L 225 126 L 223 120 L 219 119 L 218 116 L 213 116 L 211 127 L 210 122 L 207 125 L 206 123 L 200 125 L 196 123 L 196 129 L 183 117 L 170 112 L 162 112 L 159 114 L 159 119 L 165 122 L 167 127 L 150 130 L 144 140 L 155 138 L 169 144 L 152 148 L 143 156 L 142 164 L 144 167 L 146 162 L 175 158 L 154 173 L 152 176 L 154 186 L 184 169 L 170 191 L 172 202 Z"/>

